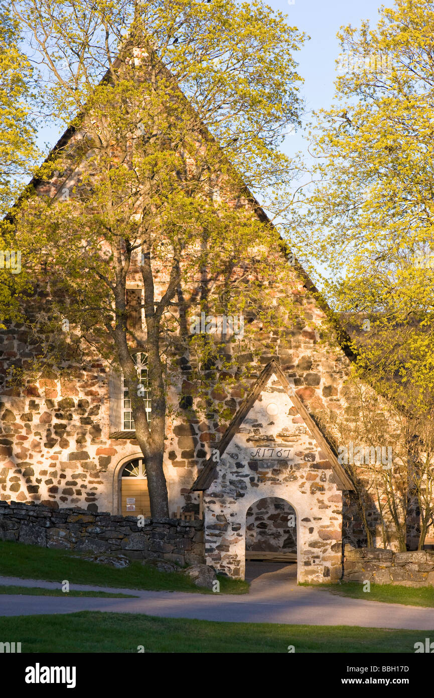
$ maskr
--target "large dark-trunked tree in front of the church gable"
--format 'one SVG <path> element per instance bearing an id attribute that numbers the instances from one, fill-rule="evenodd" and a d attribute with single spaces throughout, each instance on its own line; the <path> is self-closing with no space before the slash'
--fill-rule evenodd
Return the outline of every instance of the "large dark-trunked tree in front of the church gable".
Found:
<path id="1" fill-rule="evenodd" d="M 202 390 L 209 411 L 216 365 L 233 369 L 228 380 L 239 365 L 234 336 L 199 338 L 191 313 L 246 307 L 263 325 L 278 320 L 276 336 L 294 313 L 292 269 L 245 182 L 278 188 L 292 172 L 278 144 L 299 119 L 292 52 L 302 36 L 261 3 L 24 0 L 14 11 L 40 55 L 45 113 L 72 119 L 71 138 L 45 165 L 52 176 L 15 211 L 23 256 L 36 255 L 50 279 L 32 325 L 40 363 L 59 366 L 66 351 L 77 360 L 86 345 L 119 367 L 151 514 L 165 517 L 171 372 L 192 358 L 191 393 Z M 128 322 L 128 279 L 143 287 L 144 334 Z M 70 334 L 60 332 L 65 319 Z M 137 351 L 147 354 L 147 386 Z"/>

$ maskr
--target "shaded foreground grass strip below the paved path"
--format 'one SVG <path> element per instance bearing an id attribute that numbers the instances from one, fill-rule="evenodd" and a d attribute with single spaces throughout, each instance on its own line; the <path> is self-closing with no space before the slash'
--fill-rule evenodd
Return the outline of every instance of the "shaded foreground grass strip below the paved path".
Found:
<path id="1" fill-rule="evenodd" d="M 428 634 L 428 633 L 426 633 Z M 0 617 L 0 637 L 22 643 L 23 653 L 414 653 L 420 630 L 378 630 L 345 625 L 216 623 L 188 618 L 80 611 L 53 616 Z"/>

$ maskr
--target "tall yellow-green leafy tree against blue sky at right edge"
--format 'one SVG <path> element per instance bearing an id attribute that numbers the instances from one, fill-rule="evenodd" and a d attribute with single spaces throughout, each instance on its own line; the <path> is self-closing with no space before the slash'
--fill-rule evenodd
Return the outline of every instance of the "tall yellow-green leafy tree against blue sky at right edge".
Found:
<path id="1" fill-rule="evenodd" d="M 338 36 L 336 99 L 316 114 L 314 183 L 288 232 L 332 309 L 359 317 L 359 377 L 423 436 L 434 406 L 433 3 L 396 0 L 377 27 Z"/>

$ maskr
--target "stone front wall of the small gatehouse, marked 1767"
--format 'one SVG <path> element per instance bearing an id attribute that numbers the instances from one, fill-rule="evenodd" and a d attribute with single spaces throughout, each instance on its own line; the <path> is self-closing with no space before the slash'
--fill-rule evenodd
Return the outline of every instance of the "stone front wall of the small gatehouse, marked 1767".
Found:
<path id="1" fill-rule="evenodd" d="M 297 580 L 342 575 L 342 492 L 290 396 L 272 375 L 217 463 L 204 491 L 208 565 L 244 579 L 246 514 L 265 497 L 297 514 Z"/>

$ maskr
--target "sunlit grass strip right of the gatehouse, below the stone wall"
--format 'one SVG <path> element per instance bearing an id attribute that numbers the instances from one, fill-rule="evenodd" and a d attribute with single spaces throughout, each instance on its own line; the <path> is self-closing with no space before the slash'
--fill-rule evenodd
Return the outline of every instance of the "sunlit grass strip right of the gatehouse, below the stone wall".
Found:
<path id="1" fill-rule="evenodd" d="M 310 585 L 308 585 L 310 586 Z M 315 584 L 332 594 L 351 596 L 366 601 L 384 601 L 388 604 L 434 607 L 434 586 L 395 586 L 394 584 L 373 584 L 371 591 L 363 591 L 361 581 L 343 581 L 341 584 Z"/>

